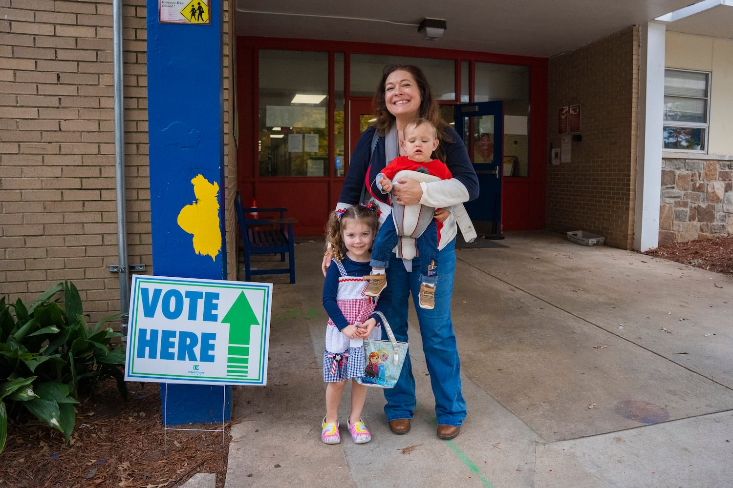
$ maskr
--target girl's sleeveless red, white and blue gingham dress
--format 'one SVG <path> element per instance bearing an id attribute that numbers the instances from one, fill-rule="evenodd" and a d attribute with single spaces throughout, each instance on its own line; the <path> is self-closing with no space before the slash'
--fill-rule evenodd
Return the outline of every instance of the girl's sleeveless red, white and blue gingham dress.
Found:
<path id="1" fill-rule="evenodd" d="M 349 323 L 364 323 L 374 312 L 377 299 L 364 295 L 369 284 L 364 277 L 347 276 L 342 263 L 334 259 L 339 269 L 339 288 L 336 292 L 336 304 L 339 305 Z M 366 263 L 369 265 L 369 263 Z M 369 266 L 369 274 L 372 267 Z M 381 339 L 382 328 L 377 324 L 369 334 L 369 339 Z M 325 331 L 325 352 L 323 353 L 323 380 L 327 382 L 343 381 L 347 378 L 361 378 L 367 363 L 364 358 L 364 349 L 350 347 L 351 339 L 339 331 L 331 318 Z"/>

